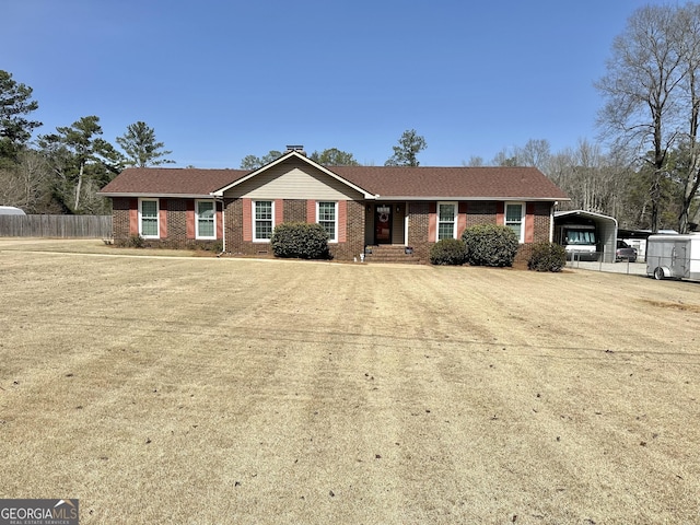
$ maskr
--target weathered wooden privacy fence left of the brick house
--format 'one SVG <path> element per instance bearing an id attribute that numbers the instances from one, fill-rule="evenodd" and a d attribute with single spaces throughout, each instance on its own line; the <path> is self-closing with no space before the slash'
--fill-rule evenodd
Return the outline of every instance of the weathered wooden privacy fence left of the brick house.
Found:
<path id="1" fill-rule="evenodd" d="M 112 215 L 0 215 L 0 237 L 112 237 Z"/>

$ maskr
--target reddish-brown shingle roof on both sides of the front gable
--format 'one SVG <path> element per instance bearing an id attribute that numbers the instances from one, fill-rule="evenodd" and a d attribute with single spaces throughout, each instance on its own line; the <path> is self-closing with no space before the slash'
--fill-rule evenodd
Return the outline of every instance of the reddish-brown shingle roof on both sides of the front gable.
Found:
<path id="1" fill-rule="evenodd" d="M 535 167 L 327 167 L 380 198 L 568 200 Z M 102 189 L 106 196 L 208 196 L 252 172 L 131 167 Z"/>

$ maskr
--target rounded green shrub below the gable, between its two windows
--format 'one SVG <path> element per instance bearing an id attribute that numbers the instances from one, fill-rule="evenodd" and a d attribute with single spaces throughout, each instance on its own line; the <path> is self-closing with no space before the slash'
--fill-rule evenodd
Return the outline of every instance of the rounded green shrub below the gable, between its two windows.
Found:
<path id="1" fill-rule="evenodd" d="M 272 253 L 276 257 L 329 259 L 328 233 L 320 224 L 284 222 L 272 231 Z"/>

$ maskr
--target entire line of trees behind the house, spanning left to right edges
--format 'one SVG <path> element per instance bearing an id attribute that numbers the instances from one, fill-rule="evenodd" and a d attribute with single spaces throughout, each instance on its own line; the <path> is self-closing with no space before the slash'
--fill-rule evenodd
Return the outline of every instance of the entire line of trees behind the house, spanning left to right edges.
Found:
<path id="1" fill-rule="evenodd" d="M 571 198 L 560 209 L 612 215 L 621 226 L 656 232 L 692 231 L 700 223 L 700 5 L 646 5 L 634 11 L 611 46 L 605 75 L 596 82 L 605 142 L 581 140 L 551 152 L 546 139 L 501 150 L 492 160 L 471 156 L 468 166 L 536 166 Z M 39 135 L 31 119 L 38 104 L 32 89 L 0 70 L 0 203 L 25 211 L 100 213 L 95 192 L 125 166 L 170 163 L 170 151 L 139 121 L 116 139 L 102 138 L 100 119 L 82 117 Z M 607 151 L 603 144 L 607 144 Z M 387 166 L 418 166 L 425 139 L 406 130 Z M 246 155 L 256 170 L 282 154 Z M 324 165 L 359 165 L 352 153 L 330 148 L 310 158 Z"/>

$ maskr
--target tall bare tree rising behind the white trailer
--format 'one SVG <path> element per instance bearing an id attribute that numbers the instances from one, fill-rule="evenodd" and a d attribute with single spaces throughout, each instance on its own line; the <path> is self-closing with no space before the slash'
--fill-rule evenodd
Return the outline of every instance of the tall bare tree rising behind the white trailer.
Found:
<path id="1" fill-rule="evenodd" d="M 700 66 L 700 8 L 648 5 L 637 10 L 612 44 L 607 74 L 596 86 L 606 98 L 599 122 L 616 148 L 631 148 L 652 170 L 651 228 L 660 225 L 663 186 L 670 177 L 670 152 L 687 144 L 685 198 L 678 228 L 687 231 L 698 191 L 697 69 Z"/>

